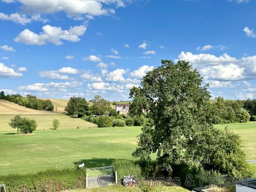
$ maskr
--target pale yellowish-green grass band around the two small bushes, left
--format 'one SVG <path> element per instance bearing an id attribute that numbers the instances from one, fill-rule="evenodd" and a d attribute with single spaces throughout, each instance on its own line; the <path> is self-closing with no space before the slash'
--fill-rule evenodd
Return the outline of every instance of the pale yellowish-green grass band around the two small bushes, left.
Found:
<path id="1" fill-rule="evenodd" d="M 12 117 L 15 115 L 0 115 L 0 132 L 5 131 L 12 131 L 15 132 L 15 130 L 12 129 L 12 127 L 9 126 L 8 122 Z M 37 122 L 37 128 L 36 130 L 49 130 L 52 129 L 52 122 L 54 119 L 58 119 L 59 129 L 75 129 L 77 126 L 79 128 L 88 128 L 88 127 L 95 127 L 97 125 L 84 121 L 80 118 L 72 118 L 68 115 L 63 114 L 33 114 L 33 115 L 20 115 L 22 117 L 27 117 L 30 119 L 34 119 Z"/>

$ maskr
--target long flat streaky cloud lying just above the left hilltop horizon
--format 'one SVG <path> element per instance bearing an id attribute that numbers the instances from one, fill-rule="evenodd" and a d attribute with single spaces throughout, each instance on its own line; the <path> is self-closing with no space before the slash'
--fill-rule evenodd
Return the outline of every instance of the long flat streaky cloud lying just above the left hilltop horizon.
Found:
<path id="1" fill-rule="evenodd" d="M 18 90 L 24 91 L 36 91 L 36 92 L 45 92 L 45 91 L 67 91 L 67 88 L 80 87 L 82 82 L 72 81 L 72 82 L 49 82 L 49 83 L 34 83 L 28 86 L 20 86 Z"/>

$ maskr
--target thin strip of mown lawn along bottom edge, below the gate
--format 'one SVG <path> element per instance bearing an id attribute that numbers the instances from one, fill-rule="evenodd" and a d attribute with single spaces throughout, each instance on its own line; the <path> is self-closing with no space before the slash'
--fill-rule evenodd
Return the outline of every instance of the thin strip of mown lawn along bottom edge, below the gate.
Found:
<path id="1" fill-rule="evenodd" d="M 179 186 L 159 186 L 156 187 L 157 191 L 162 191 L 162 192 L 188 192 L 190 190 L 179 187 Z M 141 192 L 139 187 L 123 187 L 123 186 L 113 186 L 109 185 L 104 188 L 102 187 L 95 187 L 95 188 L 90 188 L 90 189 L 74 189 L 74 190 L 65 190 L 65 192 L 98 192 L 98 191 L 105 191 L 105 192 Z"/>

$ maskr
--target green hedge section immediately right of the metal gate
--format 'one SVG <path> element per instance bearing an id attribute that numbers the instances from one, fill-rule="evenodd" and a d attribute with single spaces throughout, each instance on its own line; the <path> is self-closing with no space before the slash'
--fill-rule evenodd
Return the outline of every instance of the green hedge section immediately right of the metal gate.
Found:
<path id="1" fill-rule="evenodd" d="M 118 173 L 118 180 L 121 181 L 124 176 L 134 175 L 136 178 L 141 178 L 141 168 L 133 160 L 117 159 L 112 162 L 112 166 Z"/>

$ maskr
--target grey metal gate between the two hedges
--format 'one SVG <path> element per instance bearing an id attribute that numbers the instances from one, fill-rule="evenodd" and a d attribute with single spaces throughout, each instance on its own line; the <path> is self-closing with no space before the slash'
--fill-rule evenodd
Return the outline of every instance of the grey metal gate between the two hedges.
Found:
<path id="1" fill-rule="evenodd" d="M 86 188 L 107 186 L 115 182 L 113 166 L 94 167 L 86 169 Z"/>

